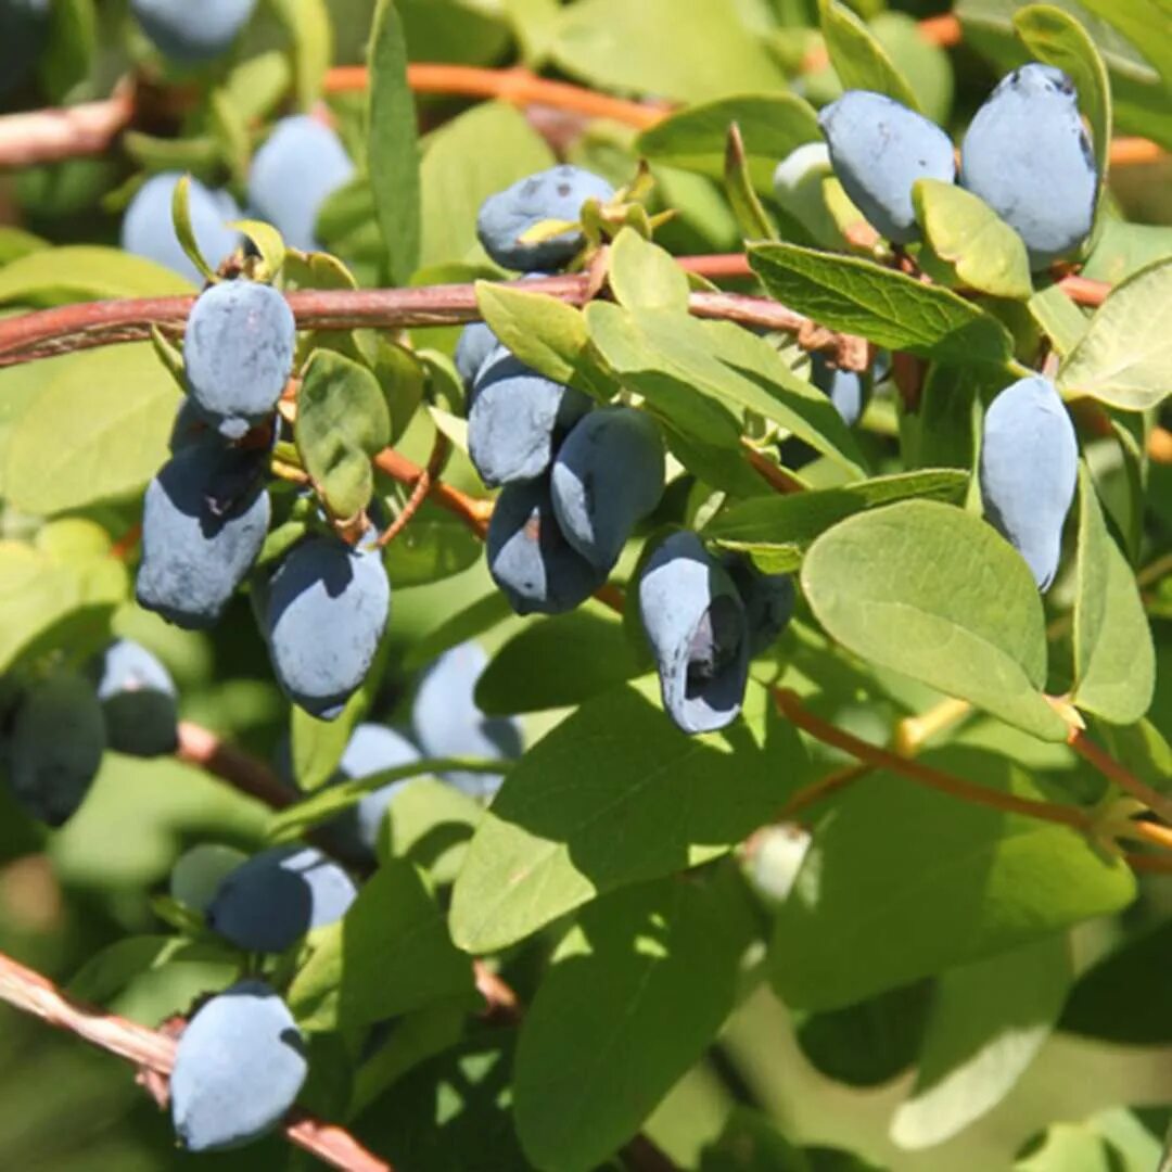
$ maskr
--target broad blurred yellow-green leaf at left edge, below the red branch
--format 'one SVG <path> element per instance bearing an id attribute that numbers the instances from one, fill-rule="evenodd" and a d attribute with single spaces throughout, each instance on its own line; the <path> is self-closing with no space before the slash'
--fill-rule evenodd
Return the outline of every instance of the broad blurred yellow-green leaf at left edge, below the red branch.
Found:
<path id="1" fill-rule="evenodd" d="M 52 516 L 138 492 L 166 459 L 178 404 L 149 342 L 54 363 L 8 434 L 6 496 Z"/>

